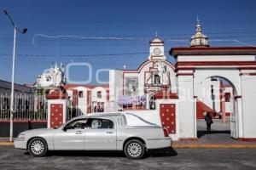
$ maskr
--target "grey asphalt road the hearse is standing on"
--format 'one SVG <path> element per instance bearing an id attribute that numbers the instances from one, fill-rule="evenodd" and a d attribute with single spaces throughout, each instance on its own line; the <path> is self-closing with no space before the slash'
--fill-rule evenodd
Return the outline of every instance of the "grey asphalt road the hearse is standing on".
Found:
<path id="1" fill-rule="evenodd" d="M 129 160 L 121 152 L 51 152 L 32 157 L 25 150 L 0 147 L 0 169 L 256 169 L 256 149 L 157 150 L 143 160 Z"/>

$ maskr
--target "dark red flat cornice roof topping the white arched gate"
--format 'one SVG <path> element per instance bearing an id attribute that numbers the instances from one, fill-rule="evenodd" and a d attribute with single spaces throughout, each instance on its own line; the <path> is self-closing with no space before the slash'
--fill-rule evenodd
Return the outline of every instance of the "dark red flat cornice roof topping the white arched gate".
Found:
<path id="1" fill-rule="evenodd" d="M 256 55 L 256 47 L 181 47 L 171 48 L 170 55 Z"/>

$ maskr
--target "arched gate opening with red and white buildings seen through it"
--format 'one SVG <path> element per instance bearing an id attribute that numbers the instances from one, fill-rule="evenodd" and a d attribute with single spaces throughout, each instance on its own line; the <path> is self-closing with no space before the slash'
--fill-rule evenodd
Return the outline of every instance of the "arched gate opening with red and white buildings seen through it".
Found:
<path id="1" fill-rule="evenodd" d="M 200 89 L 196 99 L 197 138 L 211 142 L 237 139 L 236 88 L 224 77 L 207 77 Z M 207 113 L 212 117 L 211 132 L 207 132 Z"/>

